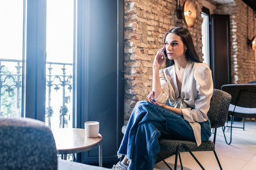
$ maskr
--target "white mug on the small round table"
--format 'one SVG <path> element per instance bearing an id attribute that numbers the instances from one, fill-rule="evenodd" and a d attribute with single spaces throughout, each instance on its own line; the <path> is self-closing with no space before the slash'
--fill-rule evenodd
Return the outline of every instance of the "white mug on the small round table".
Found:
<path id="1" fill-rule="evenodd" d="M 85 134 L 87 138 L 97 138 L 99 134 L 99 122 L 90 121 L 84 123 Z"/>

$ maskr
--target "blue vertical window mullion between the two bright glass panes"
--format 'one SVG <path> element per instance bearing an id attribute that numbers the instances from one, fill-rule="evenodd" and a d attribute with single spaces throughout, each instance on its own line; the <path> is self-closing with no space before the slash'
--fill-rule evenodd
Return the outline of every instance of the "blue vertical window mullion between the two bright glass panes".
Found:
<path id="1" fill-rule="evenodd" d="M 26 117 L 45 120 L 46 0 L 28 0 Z"/>

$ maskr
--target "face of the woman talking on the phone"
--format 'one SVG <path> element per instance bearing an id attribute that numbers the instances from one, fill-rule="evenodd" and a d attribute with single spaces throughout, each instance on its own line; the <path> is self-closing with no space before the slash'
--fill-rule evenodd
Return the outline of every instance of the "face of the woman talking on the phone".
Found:
<path id="1" fill-rule="evenodd" d="M 169 60 L 185 57 L 186 46 L 184 46 L 180 36 L 173 33 L 167 34 L 164 45 Z"/>

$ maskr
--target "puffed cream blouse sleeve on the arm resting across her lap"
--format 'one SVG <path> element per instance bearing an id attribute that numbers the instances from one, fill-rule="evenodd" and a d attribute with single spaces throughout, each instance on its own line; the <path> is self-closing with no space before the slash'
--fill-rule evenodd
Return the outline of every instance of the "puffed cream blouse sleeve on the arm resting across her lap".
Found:
<path id="1" fill-rule="evenodd" d="M 188 122 L 204 122 L 207 120 L 207 112 L 210 108 L 213 93 L 211 69 L 200 64 L 195 68 L 194 78 L 198 96 L 195 99 L 195 108 L 182 109 L 184 120 Z"/>

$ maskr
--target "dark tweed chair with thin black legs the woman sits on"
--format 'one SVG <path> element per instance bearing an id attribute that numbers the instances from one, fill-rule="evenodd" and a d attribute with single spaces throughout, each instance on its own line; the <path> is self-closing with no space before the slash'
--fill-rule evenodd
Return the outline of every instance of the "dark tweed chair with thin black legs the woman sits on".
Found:
<path id="1" fill-rule="evenodd" d="M 196 159 L 195 155 L 192 152 L 195 151 L 212 151 L 216 157 L 218 165 L 220 169 L 222 169 L 220 161 L 218 160 L 217 154 L 215 152 L 215 141 L 216 141 L 216 132 L 218 127 L 223 127 L 225 125 L 225 121 L 228 115 L 228 106 L 230 104 L 231 96 L 227 92 L 223 92 L 221 90 L 214 89 L 210 110 L 208 112 L 209 120 L 211 121 L 211 127 L 214 128 L 214 139 L 212 141 L 202 142 L 200 146 L 197 146 L 193 141 L 180 141 L 173 139 L 159 139 L 159 144 L 161 146 L 161 150 L 168 153 L 175 154 L 175 165 L 174 169 L 177 169 L 177 158 L 179 156 L 180 166 L 182 167 L 182 161 L 180 158 L 180 152 L 189 152 L 191 156 L 196 160 L 198 165 L 204 169 L 204 167 L 200 164 L 200 162 Z M 161 155 L 159 155 L 161 158 Z M 164 161 L 164 159 L 163 159 Z M 165 161 L 164 164 L 172 169 Z"/>

